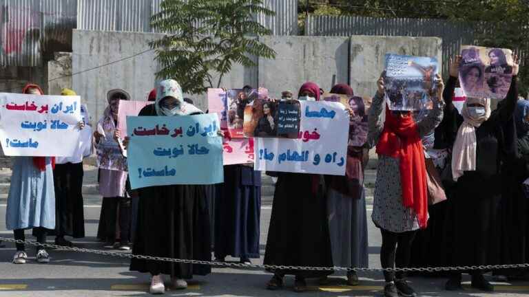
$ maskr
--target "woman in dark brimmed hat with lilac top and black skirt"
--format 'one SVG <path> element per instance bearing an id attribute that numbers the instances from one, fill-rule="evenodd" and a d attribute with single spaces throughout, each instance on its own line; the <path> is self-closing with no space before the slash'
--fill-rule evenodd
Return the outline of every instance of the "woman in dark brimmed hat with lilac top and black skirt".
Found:
<path id="1" fill-rule="evenodd" d="M 114 133 L 118 125 L 119 100 L 130 100 L 130 96 L 122 89 L 112 89 L 107 93 L 108 106 L 94 131 L 96 148 L 104 141 L 114 142 Z M 105 154 L 105 153 L 103 153 Z M 124 162 L 125 157 L 118 152 L 107 153 L 108 164 Z M 101 164 L 99 164 L 101 167 Z M 119 250 L 130 250 L 129 236 L 131 225 L 132 199 L 125 189 L 127 171 L 118 168 L 99 168 L 99 192 L 103 196 L 101 219 L 99 219 L 98 238 L 105 241 L 106 246 Z M 116 232 L 116 221 L 119 233 Z M 119 234 L 119 241 L 118 241 Z"/>

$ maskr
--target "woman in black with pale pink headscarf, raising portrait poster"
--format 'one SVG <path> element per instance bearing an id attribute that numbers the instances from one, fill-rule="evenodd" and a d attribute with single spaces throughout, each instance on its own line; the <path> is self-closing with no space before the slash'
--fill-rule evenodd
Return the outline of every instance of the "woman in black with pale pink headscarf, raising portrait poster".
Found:
<path id="1" fill-rule="evenodd" d="M 461 61 L 457 57 L 457 68 Z M 452 178 L 457 181 L 446 213 L 446 256 L 450 266 L 501 264 L 500 238 L 502 199 L 501 164 L 512 157 L 515 147 L 512 115 L 518 98 L 517 57 L 513 58 L 512 81 L 506 98 L 492 111 L 489 98 L 467 98 L 461 114 L 446 94 L 446 109 L 454 113 L 446 125 L 446 135 L 455 135 L 452 150 Z M 450 73 L 447 89 L 453 90 L 457 78 Z M 448 101 L 449 100 L 449 101 Z M 472 286 L 484 291 L 494 287 L 483 271 L 474 270 Z M 461 289 L 461 271 L 452 272 L 446 289 Z"/>

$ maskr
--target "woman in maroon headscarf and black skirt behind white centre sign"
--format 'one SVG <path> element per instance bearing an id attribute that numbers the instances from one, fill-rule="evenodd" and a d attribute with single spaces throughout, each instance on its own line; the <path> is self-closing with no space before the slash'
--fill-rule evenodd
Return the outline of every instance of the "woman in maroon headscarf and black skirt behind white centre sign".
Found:
<path id="1" fill-rule="evenodd" d="M 320 87 L 305 83 L 299 100 L 320 100 Z M 322 175 L 278 173 L 268 232 L 265 265 L 333 267 Z M 307 278 L 322 278 L 332 270 L 273 270 L 268 289 L 283 286 L 286 274 L 295 276 L 294 291 L 307 290 Z"/>

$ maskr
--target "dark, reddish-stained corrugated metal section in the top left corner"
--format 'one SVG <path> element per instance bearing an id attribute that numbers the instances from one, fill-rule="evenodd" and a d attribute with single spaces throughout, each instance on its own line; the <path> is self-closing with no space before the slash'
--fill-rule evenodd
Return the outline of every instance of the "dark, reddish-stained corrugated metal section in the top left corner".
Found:
<path id="1" fill-rule="evenodd" d="M 42 52 L 72 49 L 77 0 L 0 0 L 0 65 L 40 66 Z"/>

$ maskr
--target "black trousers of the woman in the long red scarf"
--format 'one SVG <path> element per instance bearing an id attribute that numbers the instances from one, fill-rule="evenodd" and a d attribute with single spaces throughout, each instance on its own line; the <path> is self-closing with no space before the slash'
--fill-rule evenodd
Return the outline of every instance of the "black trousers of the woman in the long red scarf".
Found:
<path id="1" fill-rule="evenodd" d="M 390 232 L 380 229 L 382 232 L 382 248 L 380 249 L 380 263 L 382 268 L 405 268 L 410 265 L 411 244 L 417 231 L 402 233 Z M 405 278 L 404 272 L 384 272 L 386 282 L 395 281 L 395 278 Z"/>

